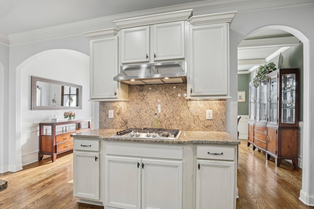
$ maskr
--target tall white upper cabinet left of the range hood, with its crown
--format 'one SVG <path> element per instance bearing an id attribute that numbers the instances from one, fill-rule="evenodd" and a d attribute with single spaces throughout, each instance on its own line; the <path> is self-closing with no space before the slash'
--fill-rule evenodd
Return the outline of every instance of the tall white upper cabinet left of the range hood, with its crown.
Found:
<path id="1" fill-rule="evenodd" d="M 113 80 L 118 74 L 119 30 L 110 28 L 85 33 L 90 39 L 90 99 L 94 101 L 128 100 L 128 87 Z"/>

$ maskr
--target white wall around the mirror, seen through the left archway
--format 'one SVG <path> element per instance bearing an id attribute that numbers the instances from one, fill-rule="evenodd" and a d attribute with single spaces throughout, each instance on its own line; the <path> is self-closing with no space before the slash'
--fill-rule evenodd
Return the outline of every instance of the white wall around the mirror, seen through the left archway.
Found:
<path id="1" fill-rule="evenodd" d="M 34 55 L 21 69 L 21 152 L 22 164 L 38 161 L 39 122 L 50 122 L 54 115 L 59 121 L 64 110 L 31 110 L 31 76 L 48 78 L 82 86 L 82 109 L 76 119 L 92 119 L 92 102 L 89 99 L 89 57 L 77 51 L 55 49 Z M 26 62 L 27 62 L 26 61 Z M 50 96 L 51 99 L 53 95 Z"/>

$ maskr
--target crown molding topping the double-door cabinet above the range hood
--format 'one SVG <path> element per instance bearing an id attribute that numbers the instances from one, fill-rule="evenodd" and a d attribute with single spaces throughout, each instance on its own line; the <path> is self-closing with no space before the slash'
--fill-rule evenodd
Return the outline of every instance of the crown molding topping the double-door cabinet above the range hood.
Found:
<path id="1" fill-rule="evenodd" d="M 181 11 L 166 12 L 161 14 L 146 15 L 136 18 L 123 19 L 113 21 L 118 28 L 129 28 L 143 25 L 166 23 L 174 21 L 185 21 L 192 15 L 192 9 L 186 9 Z"/>

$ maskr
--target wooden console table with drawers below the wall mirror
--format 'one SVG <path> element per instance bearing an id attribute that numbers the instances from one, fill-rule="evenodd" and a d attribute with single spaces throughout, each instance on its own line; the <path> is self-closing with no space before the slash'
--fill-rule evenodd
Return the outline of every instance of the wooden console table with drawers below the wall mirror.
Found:
<path id="1" fill-rule="evenodd" d="M 82 123 L 87 123 L 87 128 L 82 128 Z M 75 129 L 68 128 L 69 125 Z M 51 132 L 46 133 L 49 129 Z M 56 123 L 39 123 L 39 155 L 38 160 L 41 161 L 44 155 L 51 155 L 52 162 L 55 161 L 56 155 L 73 149 L 73 137 L 71 134 L 89 131 L 91 124 L 89 120 L 72 120 Z"/>

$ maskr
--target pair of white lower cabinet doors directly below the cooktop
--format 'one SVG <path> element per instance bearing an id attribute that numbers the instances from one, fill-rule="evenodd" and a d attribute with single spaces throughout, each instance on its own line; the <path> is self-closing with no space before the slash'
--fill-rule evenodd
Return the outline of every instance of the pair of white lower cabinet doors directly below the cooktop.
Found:
<path id="1" fill-rule="evenodd" d="M 182 162 L 106 156 L 105 169 L 105 206 L 182 208 Z"/>

